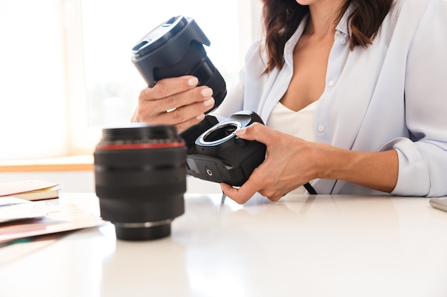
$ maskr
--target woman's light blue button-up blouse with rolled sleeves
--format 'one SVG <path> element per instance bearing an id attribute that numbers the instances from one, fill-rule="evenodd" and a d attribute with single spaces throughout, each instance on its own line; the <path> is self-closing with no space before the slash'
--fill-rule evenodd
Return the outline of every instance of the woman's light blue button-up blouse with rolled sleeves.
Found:
<path id="1" fill-rule="evenodd" d="M 336 28 L 316 106 L 316 141 L 357 151 L 394 149 L 398 181 L 391 194 L 447 195 L 447 0 L 395 1 L 373 44 L 353 51 L 347 14 Z M 305 25 L 286 43 L 281 71 L 261 75 L 266 57 L 253 45 L 216 114 L 253 110 L 267 123 L 291 81 L 293 48 Z M 386 194 L 342 180 L 316 179 L 313 187 L 318 194 Z"/>

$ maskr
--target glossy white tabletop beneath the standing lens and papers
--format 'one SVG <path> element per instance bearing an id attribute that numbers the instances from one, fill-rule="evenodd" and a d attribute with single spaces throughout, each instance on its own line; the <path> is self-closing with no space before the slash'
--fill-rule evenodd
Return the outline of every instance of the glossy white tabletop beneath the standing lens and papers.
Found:
<path id="1" fill-rule="evenodd" d="M 171 236 L 114 226 L 0 249 L 0 296 L 447 296 L 447 212 L 428 198 L 186 195 Z M 64 194 L 99 214 L 94 194 Z M 20 255 L 20 256 L 17 256 Z"/>

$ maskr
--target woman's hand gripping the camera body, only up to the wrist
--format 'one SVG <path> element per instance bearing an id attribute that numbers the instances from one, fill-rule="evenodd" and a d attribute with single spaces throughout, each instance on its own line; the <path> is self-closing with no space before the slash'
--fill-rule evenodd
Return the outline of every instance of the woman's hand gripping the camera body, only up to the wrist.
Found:
<path id="1" fill-rule="evenodd" d="M 316 177 L 313 166 L 318 147 L 316 142 L 306 142 L 259 123 L 238 130 L 236 135 L 262 142 L 267 150 L 266 160 L 253 171 L 242 187 L 236 189 L 221 184 L 222 191 L 234 201 L 243 204 L 256 192 L 276 201 Z"/>

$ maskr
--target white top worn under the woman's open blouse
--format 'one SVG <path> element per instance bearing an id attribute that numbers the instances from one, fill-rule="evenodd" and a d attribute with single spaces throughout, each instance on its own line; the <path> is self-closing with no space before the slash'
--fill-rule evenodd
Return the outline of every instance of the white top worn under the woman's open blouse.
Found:
<path id="1" fill-rule="evenodd" d="M 303 140 L 315 141 L 314 118 L 317 102 L 315 101 L 298 111 L 290 110 L 281 102 L 278 102 L 271 111 L 266 125 L 274 130 L 299 137 Z M 306 189 L 301 186 L 288 194 L 303 194 L 305 192 Z"/>

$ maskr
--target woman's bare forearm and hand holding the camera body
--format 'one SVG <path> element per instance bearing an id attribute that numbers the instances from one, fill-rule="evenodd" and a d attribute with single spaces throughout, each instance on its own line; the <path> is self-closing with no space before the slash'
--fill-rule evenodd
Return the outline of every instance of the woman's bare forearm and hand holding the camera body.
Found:
<path id="1" fill-rule="evenodd" d="M 254 123 L 236 131 L 246 140 L 266 145 L 266 160 L 239 189 L 221 184 L 222 191 L 243 204 L 256 192 L 276 201 L 311 179 L 342 179 L 381 192 L 391 192 L 398 179 L 396 150 L 357 152 L 298 137 Z"/>

